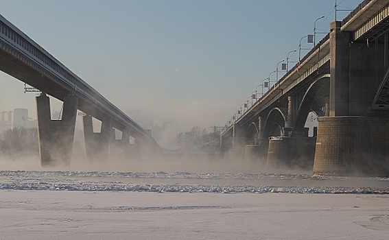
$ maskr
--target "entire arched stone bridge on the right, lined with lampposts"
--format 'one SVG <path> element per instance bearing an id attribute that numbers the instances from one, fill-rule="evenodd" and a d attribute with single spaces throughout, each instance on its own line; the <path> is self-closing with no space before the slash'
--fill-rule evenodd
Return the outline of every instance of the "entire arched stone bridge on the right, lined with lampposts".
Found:
<path id="1" fill-rule="evenodd" d="M 388 4 L 363 1 L 266 93 L 253 93 L 222 132 L 228 158 L 389 176 Z M 309 112 L 318 117 L 314 136 Z"/>

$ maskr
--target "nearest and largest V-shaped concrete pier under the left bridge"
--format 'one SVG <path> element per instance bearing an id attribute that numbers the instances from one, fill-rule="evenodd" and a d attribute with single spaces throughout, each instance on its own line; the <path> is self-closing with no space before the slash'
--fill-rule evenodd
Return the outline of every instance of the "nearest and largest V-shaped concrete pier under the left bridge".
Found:
<path id="1" fill-rule="evenodd" d="M 45 93 L 36 97 L 41 166 L 70 166 L 77 107 L 78 97 L 67 96 L 62 120 L 51 120 L 49 97 Z"/>

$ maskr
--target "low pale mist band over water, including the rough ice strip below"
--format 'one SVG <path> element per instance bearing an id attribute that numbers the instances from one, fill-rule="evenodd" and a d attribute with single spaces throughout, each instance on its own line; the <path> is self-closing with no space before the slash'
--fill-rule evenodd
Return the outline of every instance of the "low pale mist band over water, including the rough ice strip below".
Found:
<path id="1" fill-rule="evenodd" d="M 265 162 L 266 163 L 266 162 Z M 38 158 L 0 160 L 0 189 L 213 193 L 388 193 L 389 178 L 312 176 L 268 169 L 259 160 L 165 154 L 40 167 Z"/>

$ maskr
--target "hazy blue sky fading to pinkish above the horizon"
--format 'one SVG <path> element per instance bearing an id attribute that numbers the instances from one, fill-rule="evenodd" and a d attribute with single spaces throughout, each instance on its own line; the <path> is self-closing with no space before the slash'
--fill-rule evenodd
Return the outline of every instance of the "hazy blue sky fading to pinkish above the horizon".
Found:
<path id="1" fill-rule="evenodd" d="M 338 4 L 353 9 L 361 1 Z M 316 19 L 326 16 L 316 27 L 328 32 L 335 17 L 335 0 L 0 0 L 0 5 L 5 19 L 133 119 L 207 130 L 226 123 L 277 62 L 298 49 L 300 38 L 313 33 Z M 338 12 L 338 20 L 346 14 Z M 316 42 L 324 36 L 318 34 Z M 23 83 L 4 73 L 0 80 L 0 111 L 29 108 L 36 118 L 34 93 L 23 93 Z M 53 108 L 60 110 L 60 104 Z"/>

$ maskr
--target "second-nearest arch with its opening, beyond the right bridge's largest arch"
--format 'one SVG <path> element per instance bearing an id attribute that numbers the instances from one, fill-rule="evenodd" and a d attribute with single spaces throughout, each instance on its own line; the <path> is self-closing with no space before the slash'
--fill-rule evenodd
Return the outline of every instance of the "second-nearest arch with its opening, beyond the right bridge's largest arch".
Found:
<path id="1" fill-rule="evenodd" d="M 280 108 L 273 108 L 268 117 L 266 117 L 265 124 L 263 125 L 262 137 L 268 138 L 269 136 L 281 136 L 282 128 L 285 126 L 286 118 Z"/>

